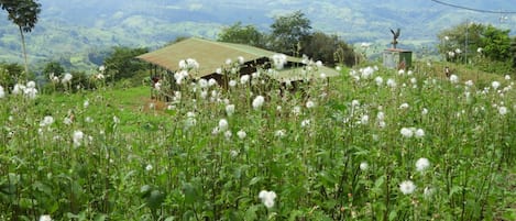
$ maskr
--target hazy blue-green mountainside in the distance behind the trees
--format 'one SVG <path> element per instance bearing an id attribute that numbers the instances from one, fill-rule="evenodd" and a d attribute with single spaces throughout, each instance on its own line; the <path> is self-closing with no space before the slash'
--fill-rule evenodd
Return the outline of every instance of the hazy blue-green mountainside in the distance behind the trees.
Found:
<path id="1" fill-rule="evenodd" d="M 491 23 L 514 29 L 516 16 L 481 13 L 444 5 L 488 11 L 516 11 L 507 0 L 40 0 L 40 22 L 28 34 L 33 64 L 57 59 L 75 68 L 94 65 L 88 54 L 127 45 L 156 48 L 177 36 L 216 38 L 221 27 L 238 21 L 264 32 L 276 15 L 303 11 L 314 30 L 337 34 L 349 43 L 391 40 L 400 27 L 399 42 L 408 47 L 432 44 L 437 33 L 461 22 Z M 515 30 L 513 30 L 514 33 Z M 0 12 L 0 62 L 20 62 L 18 29 Z"/>

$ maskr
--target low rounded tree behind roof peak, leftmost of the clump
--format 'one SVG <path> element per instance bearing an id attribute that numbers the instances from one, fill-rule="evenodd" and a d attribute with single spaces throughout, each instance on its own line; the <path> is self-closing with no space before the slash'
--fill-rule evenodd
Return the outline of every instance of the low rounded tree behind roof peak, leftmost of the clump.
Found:
<path id="1" fill-rule="evenodd" d="M 222 29 L 218 41 L 248 44 L 256 47 L 264 46 L 263 34 L 254 25 L 243 26 L 242 22 L 237 22 L 231 26 Z"/>

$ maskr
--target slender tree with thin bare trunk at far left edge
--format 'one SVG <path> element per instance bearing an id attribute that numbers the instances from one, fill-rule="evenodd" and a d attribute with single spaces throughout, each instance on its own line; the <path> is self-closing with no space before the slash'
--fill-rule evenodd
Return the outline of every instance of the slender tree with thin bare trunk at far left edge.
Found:
<path id="1" fill-rule="evenodd" d="M 29 64 L 26 60 L 26 47 L 24 32 L 32 32 L 37 23 L 37 15 L 41 12 L 41 4 L 37 0 L 0 0 L 0 5 L 8 12 L 8 18 L 20 30 L 22 40 L 23 57 L 25 60 L 25 79 L 29 76 Z"/>

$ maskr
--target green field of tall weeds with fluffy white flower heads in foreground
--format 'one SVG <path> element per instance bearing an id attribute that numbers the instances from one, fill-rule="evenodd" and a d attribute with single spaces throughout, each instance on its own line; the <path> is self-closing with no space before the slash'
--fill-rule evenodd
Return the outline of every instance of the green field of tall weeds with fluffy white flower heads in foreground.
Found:
<path id="1" fill-rule="evenodd" d="M 166 103 L 0 88 L 0 220 L 516 218 L 514 79 L 341 71 L 289 92 L 223 70 Z"/>

